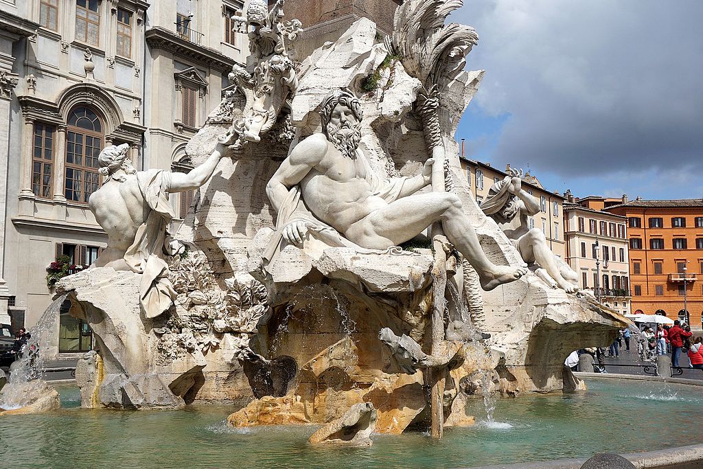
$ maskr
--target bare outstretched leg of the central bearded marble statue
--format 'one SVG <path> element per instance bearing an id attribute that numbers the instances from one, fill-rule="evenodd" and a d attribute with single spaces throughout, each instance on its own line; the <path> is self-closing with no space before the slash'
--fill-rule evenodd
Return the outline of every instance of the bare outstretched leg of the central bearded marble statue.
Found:
<path id="1" fill-rule="evenodd" d="M 395 200 L 357 221 L 344 235 L 364 248 L 385 249 L 404 243 L 439 220 L 446 237 L 478 272 L 484 290 L 527 274 L 522 266 L 496 266 L 486 257 L 461 201 L 452 193 L 417 194 Z"/>

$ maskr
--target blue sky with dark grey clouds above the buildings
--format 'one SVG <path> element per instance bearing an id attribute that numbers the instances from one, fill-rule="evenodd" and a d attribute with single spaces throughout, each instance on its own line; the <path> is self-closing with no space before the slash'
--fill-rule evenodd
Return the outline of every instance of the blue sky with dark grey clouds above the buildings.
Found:
<path id="1" fill-rule="evenodd" d="M 702 0 L 464 0 L 468 158 L 550 191 L 703 198 Z"/>

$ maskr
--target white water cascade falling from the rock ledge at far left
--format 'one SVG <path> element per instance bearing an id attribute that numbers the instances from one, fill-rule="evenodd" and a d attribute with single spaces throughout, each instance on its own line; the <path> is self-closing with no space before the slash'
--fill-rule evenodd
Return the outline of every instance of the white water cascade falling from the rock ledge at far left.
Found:
<path id="1" fill-rule="evenodd" d="M 10 367 L 7 384 L 0 392 L 1 409 L 20 409 L 31 404 L 37 397 L 40 397 L 40 394 L 53 390 L 44 381 L 46 345 L 51 340 L 53 325 L 56 323 L 61 304 L 65 299 L 66 295 L 61 295 L 54 300 L 39 318 L 37 325 L 29 330 L 31 338 L 27 340 L 22 358 L 15 361 Z"/>

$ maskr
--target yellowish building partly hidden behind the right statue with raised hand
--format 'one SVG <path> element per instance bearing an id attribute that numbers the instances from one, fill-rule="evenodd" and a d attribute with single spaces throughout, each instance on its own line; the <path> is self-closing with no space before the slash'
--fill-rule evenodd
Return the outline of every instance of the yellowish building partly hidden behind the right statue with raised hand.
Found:
<path id="1" fill-rule="evenodd" d="M 491 186 L 501 181 L 510 171 L 510 165 L 505 172 L 492 167 L 489 163 L 460 158 L 461 169 L 466 178 L 476 203 L 481 203 L 488 197 Z M 547 238 L 547 244 L 560 259 L 565 258 L 564 222 L 562 206 L 564 198 L 555 192 L 547 191 L 535 176 L 526 174 L 522 179 L 523 188 L 540 200 L 541 210 L 534 217 L 527 217 L 530 228 L 541 229 Z"/>

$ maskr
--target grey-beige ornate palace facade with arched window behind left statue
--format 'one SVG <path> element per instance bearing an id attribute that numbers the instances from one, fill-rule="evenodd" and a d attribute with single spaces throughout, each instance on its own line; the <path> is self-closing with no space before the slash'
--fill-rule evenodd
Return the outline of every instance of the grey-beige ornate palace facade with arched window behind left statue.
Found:
<path id="1" fill-rule="evenodd" d="M 242 6 L 0 0 L 0 322 L 34 326 L 52 301 L 50 264 L 82 269 L 105 247 L 87 206 L 102 148 L 128 143 L 140 170 L 192 167 L 186 143 L 248 53 L 230 20 Z M 192 198 L 172 198 L 181 217 Z M 53 352 L 90 347 L 66 308 L 55 326 Z"/>

